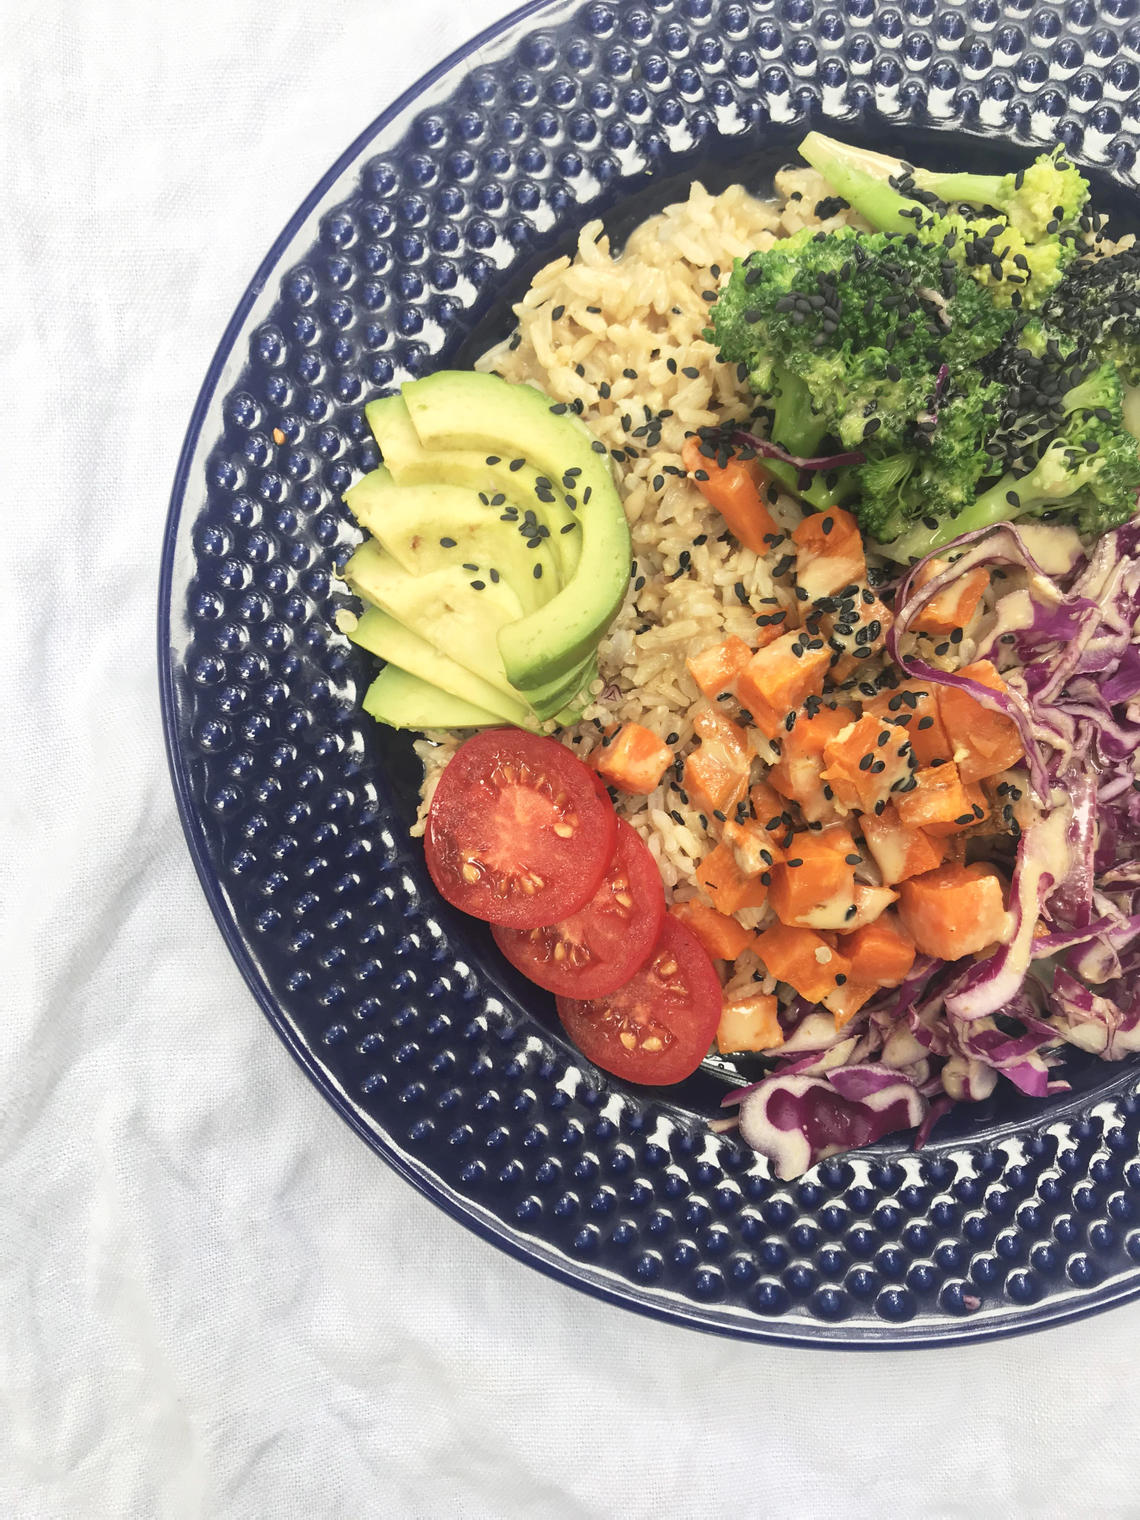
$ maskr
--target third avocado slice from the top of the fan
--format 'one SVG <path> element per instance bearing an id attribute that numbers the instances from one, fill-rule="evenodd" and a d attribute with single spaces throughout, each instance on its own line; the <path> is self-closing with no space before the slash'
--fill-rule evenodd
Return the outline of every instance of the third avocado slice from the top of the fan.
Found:
<path id="1" fill-rule="evenodd" d="M 468 579 L 502 578 L 518 597 L 523 614 L 549 602 L 559 588 L 559 568 L 549 540 L 527 549 L 500 508 L 468 486 L 397 485 L 383 467 L 345 491 L 345 505 L 362 527 L 409 575 L 476 565 Z M 535 578 L 534 567 L 543 565 Z"/>

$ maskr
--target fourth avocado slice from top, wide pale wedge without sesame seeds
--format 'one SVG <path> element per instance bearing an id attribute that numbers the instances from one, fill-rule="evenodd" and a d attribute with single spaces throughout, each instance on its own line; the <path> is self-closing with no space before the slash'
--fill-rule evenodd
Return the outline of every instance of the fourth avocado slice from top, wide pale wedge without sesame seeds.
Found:
<path id="1" fill-rule="evenodd" d="M 523 616 L 518 597 L 506 582 L 480 582 L 467 570 L 432 570 L 409 575 L 369 538 L 340 572 L 366 602 L 415 629 L 429 644 L 458 664 L 480 675 L 508 696 L 518 693 L 503 670 L 499 631 Z"/>

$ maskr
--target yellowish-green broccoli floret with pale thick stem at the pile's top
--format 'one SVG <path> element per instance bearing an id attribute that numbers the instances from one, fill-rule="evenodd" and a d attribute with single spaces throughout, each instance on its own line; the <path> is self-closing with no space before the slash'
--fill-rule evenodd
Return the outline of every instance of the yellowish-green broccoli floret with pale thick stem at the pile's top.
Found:
<path id="1" fill-rule="evenodd" d="M 1059 154 L 1038 158 L 1032 178 L 1031 170 L 1024 170 L 1020 187 L 1017 175 L 1008 176 L 1008 188 L 1005 179 L 988 176 L 929 176 L 944 184 L 961 178 L 974 190 L 993 190 L 996 199 L 1006 201 L 1006 211 L 947 204 L 924 190 L 901 164 L 891 175 L 888 160 L 874 160 L 819 132 L 809 132 L 800 152 L 871 226 L 883 233 L 917 233 L 988 290 L 997 306 L 1038 307 L 1081 252 L 1079 219 L 1088 187 Z M 1029 181 L 1028 188 L 1024 181 Z M 1055 199 L 1049 210 L 1059 207 L 1062 216 L 1041 222 L 1050 195 Z"/>

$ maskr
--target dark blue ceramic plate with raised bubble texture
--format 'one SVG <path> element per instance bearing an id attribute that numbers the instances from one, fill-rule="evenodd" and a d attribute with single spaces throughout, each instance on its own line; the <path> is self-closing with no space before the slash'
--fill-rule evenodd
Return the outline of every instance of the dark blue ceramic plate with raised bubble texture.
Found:
<path id="1" fill-rule="evenodd" d="M 763 190 L 806 126 L 1011 166 L 1062 138 L 1128 226 L 1135 0 L 530 5 L 344 154 L 254 275 L 202 386 L 161 584 L 163 714 L 190 850 L 271 1023 L 392 1166 L 562 1280 L 682 1324 L 833 1345 L 965 1341 L 1140 1290 L 1132 1064 L 959 1111 L 792 1183 L 707 1119 L 722 1079 L 632 1090 L 435 895 L 410 742 L 363 719 L 336 632 L 363 403 L 464 365 L 582 222 L 693 176 Z"/>

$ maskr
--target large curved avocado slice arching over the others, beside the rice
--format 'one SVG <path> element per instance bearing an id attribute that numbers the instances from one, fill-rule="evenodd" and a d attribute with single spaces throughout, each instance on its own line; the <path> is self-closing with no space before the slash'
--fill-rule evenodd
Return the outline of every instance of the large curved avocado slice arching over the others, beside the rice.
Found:
<path id="1" fill-rule="evenodd" d="M 572 480 L 581 529 L 575 576 L 546 606 L 499 634 L 503 667 L 517 689 L 570 670 L 597 648 L 629 582 L 629 526 L 605 445 L 541 391 L 499 375 L 441 369 L 406 385 L 403 400 L 432 458 L 480 450 L 485 458 L 523 458 L 518 474 L 537 470 L 559 485 Z"/>

